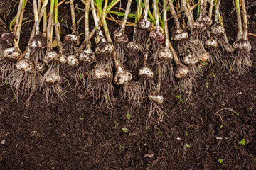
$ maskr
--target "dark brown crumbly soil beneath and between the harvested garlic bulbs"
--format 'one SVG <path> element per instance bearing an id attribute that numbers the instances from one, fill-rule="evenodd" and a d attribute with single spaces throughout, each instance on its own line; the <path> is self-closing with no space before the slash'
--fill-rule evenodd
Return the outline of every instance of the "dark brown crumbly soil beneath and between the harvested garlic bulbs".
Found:
<path id="1" fill-rule="evenodd" d="M 248 0 L 247 6 L 249 33 L 255 34 L 255 2 Z M 220 7 L 233 43 L 233 2 L 222 1 Z M 16 10 L 14 1 L 0 0 L 0 33 L 8 29 Z M 82 13 L 77 11 L 77 17 Z M 59 15 L 63 38 L 70 33 L 68 4 Z M 21 50 L 33 26 L 31 4 L 24 18 Z M 118 25 L 108 22 L 114 33 Z M 80 33 L 82 25 L 83 20 Z M 132 31 L 127 27 L 129 40 Z M 1 86 L 0 169 L 256 169 L 256 38 L 249 35 L 249 40 L 254 60 L 250 72 L 231 77 L 219 67 L 203 66 L 190 98 L 163 85 L 166 115 L 158 125 L 147 122 L 147 108 L 132 111 L 120 100 L 117 86 L 113 108 L 102 108 L 70 87 L 65 88 L 65 102 L 53 96 L 46 103 L 38 91 L 26 107 L 26 96 L 15 98 L 8 84 Z M 70 85 L 75 86 L 72 80 Z"/>

